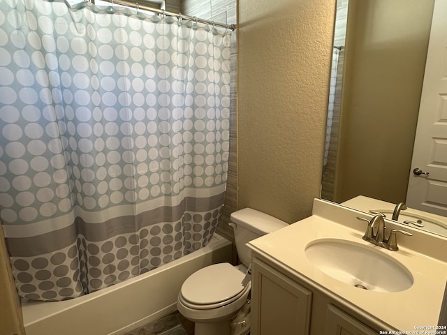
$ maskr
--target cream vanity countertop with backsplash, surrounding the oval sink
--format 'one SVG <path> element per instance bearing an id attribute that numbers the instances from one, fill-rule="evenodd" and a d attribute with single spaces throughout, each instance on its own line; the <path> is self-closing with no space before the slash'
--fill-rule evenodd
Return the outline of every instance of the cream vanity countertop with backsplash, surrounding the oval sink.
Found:
<path id="1" fill-rule="evenodd" d="M 400 250 L 388 251 L 362 239 L 367 223 L 356 220 L 356 216 L 368 217 L 338 204 L 315 200 L 312 216 L 255 239 L 249 242 L 248 246 L 253 251 L 274 260 L 279 267 L 298 277 L 305 276 L 324 290 L 340 297 L 342 301 L 349 301 L 350 304 L 360 308 L 360 313 L 374 315 L 375 318 L 397 330 L 406 332 L 414 331 L 415 327 L 437 325 L 446 288 L 447 263 L 429 255 L 433 253 L 434 245 L 436 248 L 443 246 L 445 253 L 447 239 L 409 228 L 406 230 L 414 234 L 414 239 L 399 236 Z M 387 221 L 386 225 L 393 228 L 393 223 Z M 401 292 L 374 292 L 337 281 L 314 267 L 305 255 L 307 244 L 317 239 L 344 239 L 390 255 L 409 269 L 413 276 L 413 285 Z M 399 244 L 399 241 L 402 243 Z M 427 249 L 431 248 L 429 255 L 412 250 L 411 244 L 416 242 L 427 244 Z M 374 267 L 374 264 L 371 266 Z"/>

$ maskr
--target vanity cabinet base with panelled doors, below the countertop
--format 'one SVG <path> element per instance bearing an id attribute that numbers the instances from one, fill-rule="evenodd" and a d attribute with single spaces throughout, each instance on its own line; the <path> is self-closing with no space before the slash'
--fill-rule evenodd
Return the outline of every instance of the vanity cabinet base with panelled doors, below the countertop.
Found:
<path id="1" fill-rule="evenodd" d="M 256 254 L 251 290 L 251 335 L 376 335 L 383 330 Z"/>

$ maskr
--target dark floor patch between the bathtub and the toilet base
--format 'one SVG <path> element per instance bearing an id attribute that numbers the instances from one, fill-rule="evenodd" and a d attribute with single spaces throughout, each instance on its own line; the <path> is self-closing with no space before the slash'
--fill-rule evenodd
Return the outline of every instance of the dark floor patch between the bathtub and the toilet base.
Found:
<path id="1" fill-rule="evenodd" d="M 166 315 L 160 320 L 133 329 L 125 335 L 193 335 L 194 323 L 186 320 L 179 312 Z"/>

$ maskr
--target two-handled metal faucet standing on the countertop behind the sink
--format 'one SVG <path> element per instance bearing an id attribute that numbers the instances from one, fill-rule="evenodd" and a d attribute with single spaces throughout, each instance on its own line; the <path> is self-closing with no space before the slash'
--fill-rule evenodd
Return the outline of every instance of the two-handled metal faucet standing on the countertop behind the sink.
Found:
<path id="1" fill-rule="evenodd" d="M 397 246 L 397 237 L 396 233 L 400 232 L 406 236 L 413 236 L 411 232 L 406 232 L 405 230 L 400 229 L 392 229 L 388 238 L 385 237 L 385 221 L 383 220 L 383 216 L 375 215 L 371 220 L 367 218 L 362 218 L 361 216 L 357 216 L 358 220 L 367 221 L 368 227 L 366 228 L 365 235 L 363 235 L 362 239 L 368 241 L 369 243 L 375 244 L 376 246 L 381 246 L 382 248 L 386 248 L 391 251 L 399 250 Z"/>

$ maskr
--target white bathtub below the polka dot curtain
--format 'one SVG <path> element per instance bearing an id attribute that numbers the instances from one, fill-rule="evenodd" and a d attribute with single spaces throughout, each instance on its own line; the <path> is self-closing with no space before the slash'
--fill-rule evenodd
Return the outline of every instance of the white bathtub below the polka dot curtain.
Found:
<path id="1" fill-rule="evenodd" d="M 22 303 L 27 335 L 121 335 L 177 310 L 194 271 L 231 262 L 231 242 L 214 234 L 207 246 L 123 283 L 71 300 Z"/>

